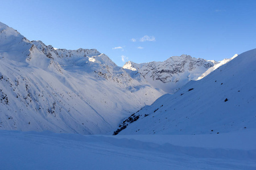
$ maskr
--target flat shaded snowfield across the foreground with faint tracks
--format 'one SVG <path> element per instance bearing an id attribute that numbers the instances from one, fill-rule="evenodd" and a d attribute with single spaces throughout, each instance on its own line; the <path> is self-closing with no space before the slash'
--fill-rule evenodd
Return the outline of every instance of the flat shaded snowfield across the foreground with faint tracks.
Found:
<path id="1" fill-rule="evenodd" d="M 256 169 L 256 131 L 81 135 L 0 131 L 0 169 Z"/>

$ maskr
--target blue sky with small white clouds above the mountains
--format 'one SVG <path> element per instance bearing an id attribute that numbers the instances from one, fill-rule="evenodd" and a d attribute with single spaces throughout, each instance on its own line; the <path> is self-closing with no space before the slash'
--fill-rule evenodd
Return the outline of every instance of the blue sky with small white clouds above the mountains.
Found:
<path id="1" fill-rule="evenodd" d="M 55 48 L 96 48 L 118 66 L 256 48 L 256 1 L 1 1 L 0 22 Z"/>

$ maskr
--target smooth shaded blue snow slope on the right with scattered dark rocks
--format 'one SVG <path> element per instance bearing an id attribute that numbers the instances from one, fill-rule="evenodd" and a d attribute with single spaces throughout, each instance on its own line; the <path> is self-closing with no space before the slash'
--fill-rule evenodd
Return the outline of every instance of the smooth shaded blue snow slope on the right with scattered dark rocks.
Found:
<path id="1" fill-rule="evenodd" d="M 256 49 L 124 120 L 114 134 L 219 134 L 256 129 Z"/>

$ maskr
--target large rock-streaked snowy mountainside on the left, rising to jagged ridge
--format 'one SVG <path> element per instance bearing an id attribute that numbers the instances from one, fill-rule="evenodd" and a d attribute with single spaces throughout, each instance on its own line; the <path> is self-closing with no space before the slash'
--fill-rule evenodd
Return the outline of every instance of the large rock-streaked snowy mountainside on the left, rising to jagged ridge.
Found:
<path id="1" fill-rule="evenodd" d="M 96 49 L 54 49 L 0 23 L 0 130 L 101 134 L 163 91 Z"/>

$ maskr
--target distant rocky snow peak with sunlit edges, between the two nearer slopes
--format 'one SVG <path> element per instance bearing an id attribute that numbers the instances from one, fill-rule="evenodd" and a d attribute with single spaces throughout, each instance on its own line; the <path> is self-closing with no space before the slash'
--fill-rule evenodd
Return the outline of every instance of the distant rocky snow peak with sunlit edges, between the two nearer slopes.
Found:
<path id="1" fill-rule="evenodd" d="M 138 64 L 129 61 L 125 63 L 123 69 L 126 69 L 127 73 L 140 82 L 144 82 L 146 79 L 153 87 L 174 94 L 190 80 L 203 78 L 234 57 L 217 62 L 183 54 L 170 57 L 163 62 L 153 61 Z"/>

